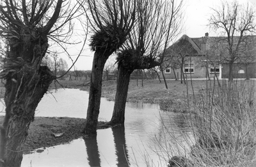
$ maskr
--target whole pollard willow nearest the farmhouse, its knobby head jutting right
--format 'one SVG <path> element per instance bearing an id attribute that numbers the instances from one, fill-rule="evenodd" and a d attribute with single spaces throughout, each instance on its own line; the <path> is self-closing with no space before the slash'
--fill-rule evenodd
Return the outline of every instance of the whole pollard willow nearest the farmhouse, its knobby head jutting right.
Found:
<path id="1" fill-rule="evenodd" d="M 159 55 L 180 33 L 182 1 L 138 0 L 136 24 L 118 53 L 118 74 L 113 115 L 107 124 L 124 124 L 129 81 L 134 69 L 161 65 Z"/>

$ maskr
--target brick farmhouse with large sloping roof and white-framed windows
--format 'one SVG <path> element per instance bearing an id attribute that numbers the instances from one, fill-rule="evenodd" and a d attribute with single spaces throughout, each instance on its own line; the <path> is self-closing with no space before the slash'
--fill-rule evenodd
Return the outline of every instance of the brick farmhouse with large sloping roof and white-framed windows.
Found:
<path id="1" fill-rule="evenodd" d="M 228 50 L 225 39 L 209 36 L 208 33 L 200 38 L 189 38 L 184 34 L 166 49 L 162 66 L 165 78 L 228 78 Z M 244 39 L 246 41 L 244 40 L 240 52 L 237 53 L 239 59 L 232 66 L 232 76 L 256 78 L 256 36 L 246 36 Z"/>

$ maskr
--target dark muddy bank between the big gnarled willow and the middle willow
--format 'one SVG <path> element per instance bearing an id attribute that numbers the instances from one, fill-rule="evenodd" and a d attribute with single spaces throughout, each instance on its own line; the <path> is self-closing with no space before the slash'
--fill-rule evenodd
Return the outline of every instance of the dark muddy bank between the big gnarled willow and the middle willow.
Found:
<path id="1" fill-rule="evenodd" d="M 0 122 L 3 122 L 3 116 Z M 99 129 L 102 129 L 99 122 Z M 24 144 L 24 154 L 44 147 L 68 143 L 83 136 L 85 119 L 68 117 L 35 117 L 29 126 L 28 136 Z M 40 150 L 37 150 L 40 152 Z"/>

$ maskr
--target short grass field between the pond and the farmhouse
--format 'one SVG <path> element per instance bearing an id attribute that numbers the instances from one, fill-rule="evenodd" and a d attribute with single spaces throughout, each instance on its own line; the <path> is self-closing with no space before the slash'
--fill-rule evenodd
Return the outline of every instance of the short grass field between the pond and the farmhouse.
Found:
<path id="1" fill-rule="evenodd" d="M 89 80 L 60 80 L 52 83 L 51 89 L 67 87 L 83 91 L 89 90 Z M 192 84 L 191 84 L 192 83 Z M 193 96 L 198 92 L 206 91 L 206 87 L 212 87 L 213 80 L 188 80 L 188 84 L 180 83 L 180 80 L 167 80 L 168 89 L 164 82 L 159 80 L 131 80 L 127 96 L 128 102 L 158 103 L 161 110 L 172 112 L 186 112 L 189 103 L 193 102 Z M 115 100 L 116 81 L 102 82 L 102 97 L 109 101 Z M 188 98 L 189 97 L 189 98 Z"/>

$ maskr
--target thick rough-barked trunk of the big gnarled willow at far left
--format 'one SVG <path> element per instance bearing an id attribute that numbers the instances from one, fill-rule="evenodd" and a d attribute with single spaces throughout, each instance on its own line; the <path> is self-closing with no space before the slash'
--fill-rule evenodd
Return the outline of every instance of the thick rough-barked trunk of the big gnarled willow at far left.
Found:
<path id="1" fill-rule="evenodd" d="M 5 131 L 8 140 L 6 141 L 3 166 L 20 166 L 23 145 L 26 136 L 28 136 L 29 124 L 34 120 L 36 107 L 54 79 L 51 71 L 45 68 L 45 66 L 40 67 L 36 74 L 35 71 L 31 69 L 28 69 L 26 72 L 26 76 L 24 76 L 23 80 L 21 76 L 16 77 L 19 90 L 18 92 L 17 89 L 15 90 L 16 95 L 13 101 L 9 101 L 10 96 L 13 94 L 13 88 L 11 86 L 13 80 L 11 78 L 6 80 L 6 92 L 4 95 L 6 113 L 9 108 L 12 108 L 12 114 L 10 115 L 8 127 Z M 33 76 L 33 78 L 30 76 Z M 4 129 L 1 129 L 1 133 L 3 133 L 3 130 Z M 3 139 L 1 138 L 1 143 L 2 142 Z"/>

